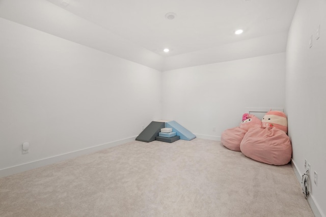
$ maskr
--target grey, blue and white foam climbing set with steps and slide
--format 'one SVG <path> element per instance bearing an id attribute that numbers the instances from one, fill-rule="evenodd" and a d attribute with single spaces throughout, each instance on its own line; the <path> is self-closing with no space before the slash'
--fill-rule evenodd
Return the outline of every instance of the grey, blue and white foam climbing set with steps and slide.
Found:
<path id="1" fill-rule="evenodd" d="M 152 121 L 136 138 L 138 141 L 151 142 L 154 140 L 162 142 L 175 142 L 179 139 L 192 140 L 196 136 L 176 121 Z"/>

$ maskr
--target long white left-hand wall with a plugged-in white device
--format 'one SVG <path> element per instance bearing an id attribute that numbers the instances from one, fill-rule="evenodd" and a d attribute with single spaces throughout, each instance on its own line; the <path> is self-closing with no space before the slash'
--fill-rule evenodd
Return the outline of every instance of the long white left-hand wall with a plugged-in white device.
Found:
<path id="1" fill-rule="evenodd" d="M 160 119 L 161 72 L 3 18 L 0 29 L 0 172 Z"/>

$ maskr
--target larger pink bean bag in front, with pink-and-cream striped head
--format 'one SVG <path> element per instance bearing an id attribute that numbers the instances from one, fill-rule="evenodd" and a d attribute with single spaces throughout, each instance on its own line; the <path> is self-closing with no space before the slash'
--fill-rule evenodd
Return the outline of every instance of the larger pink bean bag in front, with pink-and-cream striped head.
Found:
<path id="1" fill-rule="evenodd" d="M 263 117 L 261 127 L 251 128 L 244 135 L 240 150 L 248 158 L 265 164 L 288 164 L 292 146 L 286 133 L 286 115 L 280 111 L 269 111 Z"/>

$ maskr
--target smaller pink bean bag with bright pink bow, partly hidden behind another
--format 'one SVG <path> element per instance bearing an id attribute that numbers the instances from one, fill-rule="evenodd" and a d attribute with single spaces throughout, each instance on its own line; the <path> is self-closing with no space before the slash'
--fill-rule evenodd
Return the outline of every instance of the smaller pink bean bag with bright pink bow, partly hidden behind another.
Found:
<path id="1" fill-rule="evenodd" d="M 243 114 L 239 127 L 225 130 L 221 135 L 221 143 L 230 150 L 240 151 L 240 143 L 252 127 L 261 126 L 261 120 L 252 114 Z"/>

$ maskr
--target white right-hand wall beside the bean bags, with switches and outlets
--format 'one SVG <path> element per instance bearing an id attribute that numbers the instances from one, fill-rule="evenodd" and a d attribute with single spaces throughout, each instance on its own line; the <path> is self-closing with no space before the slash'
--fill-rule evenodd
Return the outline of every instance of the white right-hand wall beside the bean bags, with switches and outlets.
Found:
<path id="1" fill-rule="evenodd" d="M 302 175 L 311 164 L 311 199 L 326 213 L 326 1 L 301 0 L 288 36 L 286 54 L 286 112 L 293 163 Z M 320 38 L 316 29 L 320 24 Z M 312 47 L 309 38 L 313 35 Z M 313 172 L 318 173 L 318 185 Z"/>

